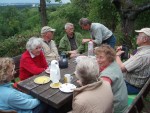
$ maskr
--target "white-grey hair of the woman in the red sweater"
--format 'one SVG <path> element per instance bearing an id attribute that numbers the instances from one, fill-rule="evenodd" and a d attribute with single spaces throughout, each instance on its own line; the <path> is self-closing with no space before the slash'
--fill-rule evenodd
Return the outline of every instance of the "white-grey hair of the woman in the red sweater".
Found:
<path id="1" fill-rule="evenodd" d="M 31 52 L 39 45 L 42 45 L 41 39 L 37 37 L 31 37 L 26 44 L 26 49 Z"/>

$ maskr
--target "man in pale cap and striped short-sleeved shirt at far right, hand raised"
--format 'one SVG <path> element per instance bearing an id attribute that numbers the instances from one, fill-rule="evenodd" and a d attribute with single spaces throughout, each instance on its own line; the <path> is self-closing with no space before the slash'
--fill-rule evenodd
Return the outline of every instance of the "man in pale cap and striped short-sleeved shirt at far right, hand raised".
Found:
<path id="1" fill-rule="evenodd" d="M 128 94 L 137 94 L 150 77 L 150 28 L 135 30 L 139 35 L 136 43 L 137 53 L 122 63 L 120 55 L 124 52 L 117 48 L 116 61 L 120 65 L 126 81 Z"/>

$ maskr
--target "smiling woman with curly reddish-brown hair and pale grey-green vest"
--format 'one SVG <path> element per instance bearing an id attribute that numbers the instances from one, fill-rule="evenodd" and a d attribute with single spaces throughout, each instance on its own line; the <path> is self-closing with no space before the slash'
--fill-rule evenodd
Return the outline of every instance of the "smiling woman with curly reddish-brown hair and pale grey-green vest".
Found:
<path id="1" fill-rule="evenodd" d="M 110 83 L 114 95 L 114 113 L 124 113 L 128 107 L 128 94 L 122 71 L 116 63 L 115 50 L 103 44 L 95 48 L 100 77 Z"/>

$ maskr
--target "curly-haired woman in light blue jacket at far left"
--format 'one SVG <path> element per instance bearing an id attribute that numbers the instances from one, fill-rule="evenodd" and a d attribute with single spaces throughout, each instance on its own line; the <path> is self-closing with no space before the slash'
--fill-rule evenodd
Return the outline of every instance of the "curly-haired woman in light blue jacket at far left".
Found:
<path id="1" fill-rule="evenodd" d="M 0 110 L 15 110 L 17 113 L 45 113 L 46 106 L 39 100 L 12 87 L 14 68 L 11 58 L 0 58 Z"/>

